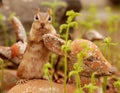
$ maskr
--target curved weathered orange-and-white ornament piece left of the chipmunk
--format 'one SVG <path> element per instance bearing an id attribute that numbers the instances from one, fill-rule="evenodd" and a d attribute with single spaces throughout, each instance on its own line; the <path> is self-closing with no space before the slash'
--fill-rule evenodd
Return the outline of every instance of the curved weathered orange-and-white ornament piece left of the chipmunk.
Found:
<path id="1" fill-rule="evenodd" d="M 10 47 L 0 46 L 0 57 L 18 65 L 26 50 L 27 36 L 22 23 L 17 17 L 12 18 L 12 24 L 15 28 L 17 42 Z"/>

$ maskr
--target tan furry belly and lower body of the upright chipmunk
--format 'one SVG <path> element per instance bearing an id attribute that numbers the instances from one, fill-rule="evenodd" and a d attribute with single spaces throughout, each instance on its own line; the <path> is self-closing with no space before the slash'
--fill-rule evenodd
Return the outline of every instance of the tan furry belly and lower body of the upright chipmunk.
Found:
<path id="1" fill-rule="evenodd" d="M 43 75 L 43 66 L 48 62 L 49 56 L 50 51 L 44 46 L 43 42 L 28 43 L 18 69 L 18 76 L 28 79 L 41 78 Z"/>

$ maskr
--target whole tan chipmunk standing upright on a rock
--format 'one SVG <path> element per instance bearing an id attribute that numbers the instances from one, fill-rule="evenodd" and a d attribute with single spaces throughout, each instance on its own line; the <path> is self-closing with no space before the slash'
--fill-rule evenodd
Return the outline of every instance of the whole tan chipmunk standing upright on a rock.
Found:
<path id="1" fill-rule="evenodd" d="M 52 26 L 50 9 L 47 12 L 37 10 L 28 37 L 28 45 L 18 67 L 17 75 L 21 79 L 42 78 L 43 66 L 48 62 L 50 51 L 44 46 L 44 34 L 56 34 Z"/>

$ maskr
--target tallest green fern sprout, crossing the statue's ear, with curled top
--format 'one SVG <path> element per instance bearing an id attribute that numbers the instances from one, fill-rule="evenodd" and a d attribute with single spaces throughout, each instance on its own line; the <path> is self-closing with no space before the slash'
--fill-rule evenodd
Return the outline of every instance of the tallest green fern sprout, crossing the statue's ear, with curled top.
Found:
<path id="1" fill-rule="evenodd" d="M 76 16 L 79 16 L 80 14 L 74 12 L 73 10 L 70 10 L 70 11 L 67 11 L 66 15 L 68 16 L 66 24 L 62 24 L 60 26 L 60 33 L 63 30 L 66 30 L 66 33 L 65 33 L 65 42 L 66 43 L 65 43 L 65 45 L 62 46 L 62 50 L 64 52 L 64 66 L 65 66 L 65 69 L 64 69 L 64 75 L 65 75 L 65 78 L 64 78 L 64 93 L 66 93 L 66 80 L 67 80 L 67 52 L 70 50 L 70 42 L 71 42 L 71 41 L 68 41 L 69 29 L 70 29 L 70 27 L 75 27 L 75 26 L 78 25 L 77 22 L 73 21 L 73 19 Z"/>

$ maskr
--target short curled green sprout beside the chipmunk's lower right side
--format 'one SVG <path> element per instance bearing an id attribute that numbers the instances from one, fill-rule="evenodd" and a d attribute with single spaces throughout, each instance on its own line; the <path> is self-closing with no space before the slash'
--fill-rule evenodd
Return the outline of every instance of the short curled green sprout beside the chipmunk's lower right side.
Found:
<path id="1" fill-rule="evenodd" d="M 44 78 L 48 78 L 50 80 L 50 86 L 51 86 L 51 93 L 53 93 L 52 90 L 52 75 L 50 73 L 50 70 L 52 70 L 52 66 L 50 63 L 46 63 L 43 67 L 43 71 L 44 71 Z"/>

